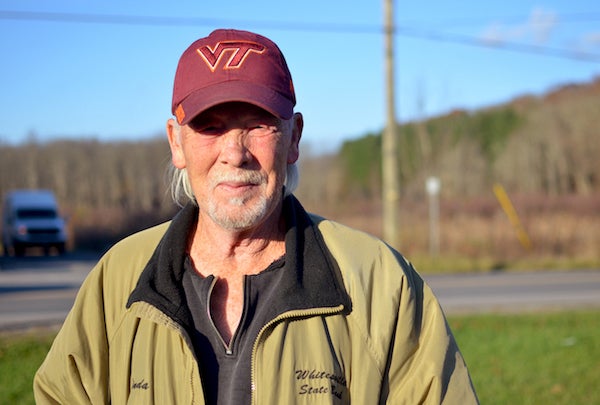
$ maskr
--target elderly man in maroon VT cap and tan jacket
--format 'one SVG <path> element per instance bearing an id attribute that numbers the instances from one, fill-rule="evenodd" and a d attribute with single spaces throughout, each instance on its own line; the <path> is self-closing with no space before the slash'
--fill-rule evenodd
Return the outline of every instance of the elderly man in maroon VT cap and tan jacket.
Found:
<path id="1" fill-rule="evenodd" d="M 183 53 L 167 122 L 182 210 L 90 273 L 38 403 L 477 403 L 411 265 L 292 195 L 295 101 L 263 36 L 216 30 Z"/>

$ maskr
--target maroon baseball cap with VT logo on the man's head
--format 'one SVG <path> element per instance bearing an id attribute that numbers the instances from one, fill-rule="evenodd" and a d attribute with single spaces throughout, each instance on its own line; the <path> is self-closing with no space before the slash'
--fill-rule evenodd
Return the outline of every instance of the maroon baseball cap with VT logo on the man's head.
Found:
<path id="1" fill-rule="evenodd" d="M 186 125 L 217 104 L 241 101 L 289 119 L 296 96 L 279 47 L 261 35 L 219 29 L 190 45 L 179 59 L 172 112 Z"/>

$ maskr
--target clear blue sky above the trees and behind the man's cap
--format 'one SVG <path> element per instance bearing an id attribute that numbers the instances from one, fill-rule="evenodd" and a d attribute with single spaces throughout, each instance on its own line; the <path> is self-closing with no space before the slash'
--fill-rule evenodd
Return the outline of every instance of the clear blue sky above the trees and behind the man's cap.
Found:
<path id="1" fill-rule="evenodd" d="M 402 122 L 600 76 L 597 1 L 396 1 L 394 11 Z M 227 27 L 280 45 L 303 141 L 332 151 L 385 123 L 382 24 L 383 0 L 0 0 L 0 143 L 162 134 L 181 52 Z"/>

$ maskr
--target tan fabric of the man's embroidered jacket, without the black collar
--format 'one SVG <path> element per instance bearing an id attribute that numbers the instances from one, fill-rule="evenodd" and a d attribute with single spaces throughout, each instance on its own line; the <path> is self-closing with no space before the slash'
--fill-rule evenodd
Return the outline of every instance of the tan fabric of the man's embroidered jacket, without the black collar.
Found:
<path id="1" fill-rule="evenodd" d="M 323 252 L 305 256 L 327 257 L 349 303 L 288 311 L 261 330 L 252 354 L 253 403 L 476 404 L 439 304 L 412 266 L 371 236 L 306 218 Z M 145 283 L 147 263 L 160 262 L 168 227 L 119 242 L 89 274 L 35 376 L 37 403 L 204 403 L 179 321 L 185 308 L 130 299 Z M 176 285 L 163 285 L 161 294 Z"/>

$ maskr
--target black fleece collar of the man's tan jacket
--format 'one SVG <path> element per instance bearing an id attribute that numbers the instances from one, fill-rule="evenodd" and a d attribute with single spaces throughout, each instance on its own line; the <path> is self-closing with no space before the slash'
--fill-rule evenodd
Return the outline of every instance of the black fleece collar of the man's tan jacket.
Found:
<path id="1" fill-rule="evenodd" d="M 280 312 L 336 307 L 350 309 L 339 269 L 316 224 L 294 196 L 283 203 L 286 222 L 285 276 L 278 284 Z M 187 240 L 198 208 L 185 206 L 172 220 L 131 293 L 127 307 L 145 301 L 186 328 L 193 325 L 182 286 Z"/>

